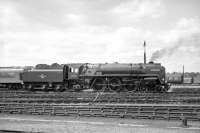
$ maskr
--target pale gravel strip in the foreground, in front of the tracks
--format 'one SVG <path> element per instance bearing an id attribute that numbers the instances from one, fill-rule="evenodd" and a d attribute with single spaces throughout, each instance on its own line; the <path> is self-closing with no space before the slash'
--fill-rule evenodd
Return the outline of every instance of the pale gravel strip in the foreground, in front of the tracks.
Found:
<path id="1" fill-rule="evenodd" d="M 200 122 L 0 114 L 0 130 L 47 133 L 200 133 Z"/>

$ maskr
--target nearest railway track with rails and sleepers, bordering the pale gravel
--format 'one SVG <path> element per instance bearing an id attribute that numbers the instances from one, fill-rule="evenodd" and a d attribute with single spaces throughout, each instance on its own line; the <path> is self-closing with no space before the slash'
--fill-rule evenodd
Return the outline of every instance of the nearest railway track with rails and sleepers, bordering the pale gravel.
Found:
<path id="1" fill-rule="evenodd" d="M 0 103 L 1 113 L 200 121 L 200 105 Z"/>

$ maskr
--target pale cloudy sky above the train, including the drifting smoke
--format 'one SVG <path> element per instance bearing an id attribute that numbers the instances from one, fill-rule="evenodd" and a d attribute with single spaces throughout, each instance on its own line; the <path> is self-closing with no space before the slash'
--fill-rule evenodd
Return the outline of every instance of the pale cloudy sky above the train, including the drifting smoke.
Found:
<path id="1" fill-rule="evenodd" d="M 0 0 L 0 66 L 143 62 L 200 72 L 200 0 Z M 153 55 L 153 56 L 152 56 Z"/>

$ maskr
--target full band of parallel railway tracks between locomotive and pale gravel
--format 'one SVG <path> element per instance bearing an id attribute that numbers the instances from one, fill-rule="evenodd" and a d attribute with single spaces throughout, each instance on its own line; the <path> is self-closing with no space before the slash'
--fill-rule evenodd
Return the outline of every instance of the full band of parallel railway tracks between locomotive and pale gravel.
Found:
<path id="1" fill-rule="evenodd" d="M 0 91 L 0 113 L 200 121 L 200 93 Z"/>

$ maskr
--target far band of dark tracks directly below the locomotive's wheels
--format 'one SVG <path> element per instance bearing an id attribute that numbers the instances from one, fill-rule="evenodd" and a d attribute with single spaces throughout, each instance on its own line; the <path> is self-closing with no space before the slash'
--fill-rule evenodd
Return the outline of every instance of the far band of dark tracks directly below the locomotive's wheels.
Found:
<path id="1" fill-rule="evenodd" d="M 183 93 L 1 93 L 1 102 L 15 103 L 165 103 L 199 104 L 200 94 Z"/>

